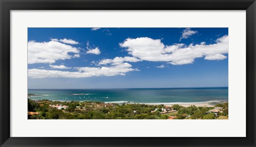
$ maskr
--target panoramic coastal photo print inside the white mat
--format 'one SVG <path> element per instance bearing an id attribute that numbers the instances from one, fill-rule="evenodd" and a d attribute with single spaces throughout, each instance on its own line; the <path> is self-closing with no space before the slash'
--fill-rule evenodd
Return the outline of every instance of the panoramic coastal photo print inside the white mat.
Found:
<path id="1" fill-rule="evenodd" d="M 228 28 L 28 28 L 28 119 L 228 119 Z"/>

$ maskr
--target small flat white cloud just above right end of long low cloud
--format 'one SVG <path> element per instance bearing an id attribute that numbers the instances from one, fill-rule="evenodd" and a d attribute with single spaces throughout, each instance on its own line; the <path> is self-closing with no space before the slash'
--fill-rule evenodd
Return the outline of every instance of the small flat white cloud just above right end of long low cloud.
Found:
<path id="1" fill-rule="evenodd" d="M 104 59 L 104 60 L 101 60 L 98 64 L 103 64 L 103 65 L 113 64 L 113 65 L 117 65 L 117 64 L 121 64 L 123 62 L 138 62 L 138 61 L 141 61 L 141 60 L 138 59 L 138 58 L 134 58 L 132 56 L 125 56 L 125 57 L 117 56 L 114 59 Z"/>

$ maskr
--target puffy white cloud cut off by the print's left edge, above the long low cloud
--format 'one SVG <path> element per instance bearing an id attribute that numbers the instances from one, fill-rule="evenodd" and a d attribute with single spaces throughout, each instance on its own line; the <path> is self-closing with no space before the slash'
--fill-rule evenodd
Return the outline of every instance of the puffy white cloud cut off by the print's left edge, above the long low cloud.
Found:
<path id="1" fill-rule="evenodd" d="M 51 40 L 50 42 L 28 42 L 28 64 L 54 63 L 56 60 L 77 58 L 78 48 Z"/>

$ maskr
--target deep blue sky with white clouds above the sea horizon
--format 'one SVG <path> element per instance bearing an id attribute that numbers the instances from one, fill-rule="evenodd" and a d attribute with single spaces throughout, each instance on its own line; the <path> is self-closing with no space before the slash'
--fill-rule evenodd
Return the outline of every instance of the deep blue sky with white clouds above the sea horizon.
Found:
<path id="1" fill-rule="evenodd" d="M 28 88 L 228 86 L 228 28 L 28 28 Z"/>

